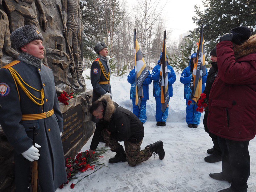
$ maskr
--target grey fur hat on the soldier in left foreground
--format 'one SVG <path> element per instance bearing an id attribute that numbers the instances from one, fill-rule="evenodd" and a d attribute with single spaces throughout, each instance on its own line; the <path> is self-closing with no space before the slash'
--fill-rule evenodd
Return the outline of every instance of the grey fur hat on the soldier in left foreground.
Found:
<path id="1" fill-rule="evenodd" d="M 44 40 L 42 34 L 35 25 L 25 25 L 17 28 L 10 36 L 15 49 L 20 51 L 20 47 L 35 40 Z"/>

